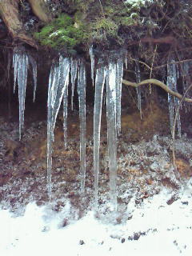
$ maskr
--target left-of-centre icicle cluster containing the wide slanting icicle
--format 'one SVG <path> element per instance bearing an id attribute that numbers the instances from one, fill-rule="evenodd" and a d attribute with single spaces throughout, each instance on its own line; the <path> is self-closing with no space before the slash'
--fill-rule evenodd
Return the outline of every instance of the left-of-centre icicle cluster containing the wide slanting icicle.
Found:
<path id="1" fill-rule="evenodd" d="M 68 86 L 71 78 L 72 99 L 74 85 L 78 79 L 78 99 L 80 117 L 80 165 L 81 187 L 84 190 L 86 177 L 86 68 L 81 59 L 65 58 L 59 56 L 59 61 L 53 64 L 50 70 L 48 90 L 48 116 L 47 116 L 47 186 L 49 198 L 51 198 L 51 169 L 52 169 L 52 146 L 54 142 L 54 127 L 58 116 L 58 110 L 63 102 L 63 130 L 64 146 L 66 143 Z M 72 104 L 73 107 L 73 104 Z"/>

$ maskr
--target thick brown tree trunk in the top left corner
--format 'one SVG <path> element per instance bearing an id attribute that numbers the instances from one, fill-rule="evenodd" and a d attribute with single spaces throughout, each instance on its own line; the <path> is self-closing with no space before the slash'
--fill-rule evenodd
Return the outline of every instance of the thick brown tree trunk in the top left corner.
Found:
<path id="1" fill-rule="evenodd" d="M 13 38 L 19 39 L 30 46 L 37 48 L 37 43 L 33 38 L 26 34 L 22 22 L 19 20 L 18 2 L 19 0 L 0 1 L 0 13 L 2 19 Z"/>

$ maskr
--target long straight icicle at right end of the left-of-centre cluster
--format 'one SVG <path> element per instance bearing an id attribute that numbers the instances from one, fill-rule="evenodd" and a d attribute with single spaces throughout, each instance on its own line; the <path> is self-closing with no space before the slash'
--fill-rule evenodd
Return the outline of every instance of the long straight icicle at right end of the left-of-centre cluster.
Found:
<path id="1" fill-rule="evenodd" d="M 86 180 L 86 68 L 82 61 L 79 62 L 78 71 L 78 102 L 80 118 L 81 190 L 83 191 Z"/>

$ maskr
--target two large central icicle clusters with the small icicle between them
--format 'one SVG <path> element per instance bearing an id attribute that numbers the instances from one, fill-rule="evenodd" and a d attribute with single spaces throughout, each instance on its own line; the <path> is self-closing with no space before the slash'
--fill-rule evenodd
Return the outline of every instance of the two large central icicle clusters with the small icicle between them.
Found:
<path id="1" fill-rule="evenodd" d="M 94 82 L 94 54 L 90 50 L 91 77 Z M 110 198 L 111 205 L 117 207 L 116 175 L 117 175 L 117 135 L 121 130 L 121 97 L 123 58 L 111 61 L 104 65 L 102 59 L 98 60 L 99 68 L 95 74 L 95 98 L 94 98 L 94 189 L 95 206 L 98 207 L 98 173 L 99 173 L 99 148 L 100 129 L 102 117 L 102 95 L 106 82 L 106 114 L 107 114 L 107 138 L 109 150 L 110 168 Z M 63 101 L 63 128 L 66 145 L 66 119 L 67 98 L 69 86 L 69 74 L 73 102 L 74 85 L 77 78 L 79 118 L 80 118 L 80 170 L 81 190 L 85 188 L 86 179 L 86 68 L 81 59 L 59 57 L 59 62 L 50 70 L 48 91 L 48 119 L 47 119 L 47 184 L 48 194 L 51 198 L 51 169 L 52 169 L 52 144 L 54 142 L 54 126 L 58 110 Z M 72 105 L 73 106 L 73 105 Z"/>

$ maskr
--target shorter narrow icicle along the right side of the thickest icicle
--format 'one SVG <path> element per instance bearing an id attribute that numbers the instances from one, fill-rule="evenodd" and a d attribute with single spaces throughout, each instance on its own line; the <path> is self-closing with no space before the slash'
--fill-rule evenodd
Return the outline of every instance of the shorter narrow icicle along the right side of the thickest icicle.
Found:
<path id="1" fill-rule="evenodd" d="M 116 64 L 116 114 L 117 114 L 117 132 L 121 132 L 122 124 L 122 75 L 123 75 L 123 58 L 119 58 Z"/>

